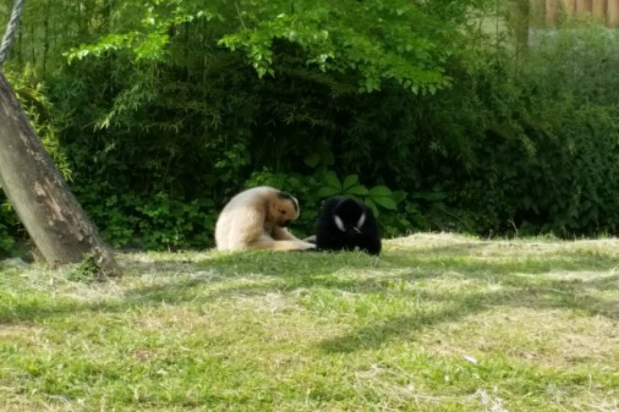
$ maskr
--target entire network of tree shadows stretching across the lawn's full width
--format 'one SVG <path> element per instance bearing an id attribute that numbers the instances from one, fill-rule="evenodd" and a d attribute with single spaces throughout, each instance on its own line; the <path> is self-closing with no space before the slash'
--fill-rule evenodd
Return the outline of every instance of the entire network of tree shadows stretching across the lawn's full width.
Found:
<path id="1" fill-rule="evenodd" d="M 195 262 L 158 261 L 144 264 L 147 270 L 140 269 L 137 264 L 138 271 L 172 275 L 164 282 L 130 288 L 120 297 L 99 302 L 43 295 L 12 304 L 0 303 L 0 323 L 40 321 L 80 312 L 127 312 L 163 302 L 200 304 L 234 295 L 261 295 L 303 288 L 389 294 L 442 304 L 437 310 L 424 308 L 415 314 L 380 319 L 345 336 L 323 341 L 321 348 L 326 352 L 352 352 L 379 347 L 391 339 L 411 339 L 424 328 L 458 321 L 496 305 L 560 308 L 619 319 L 616 301 L 594 296 L 618 290 L 619 276 L 611 274 L 587 279 L 585 275 L 612 271 L 619 267 L 619 258 L 589 251 L 495 258 L 472 254 L 470 248 L 447 246 L 444 250 L 440 247 L 433 250 L 436 253 L 392 251 L 380 259 L 362 253 L 245 253 L 208 255 Z M 178 267 L 182 267 L 182 271 L 175 271 Z M 355 277 L 356 271 L 359 277 Z M 558 274 L 564 272 L 572 277 L 561 279 Z M 256 276 L 252 277 L 252 273 Z M 341 273 L 345 276 L 340 276 Z M 583 276 L 578 277 L 579 273 Z M 239 274 L 250 282 L 232 282 Z M 415 289 L 419 282 L 433 282 L 450 274 L 477 282 L 486 286 L 486 290 L 450 290 L 447 293 Z M 412 288 L 399 290 L 394 286 L 398 282 L 412 285 Z M 500 284 L 501 288 L 493 290 L 488 284 Z"/>

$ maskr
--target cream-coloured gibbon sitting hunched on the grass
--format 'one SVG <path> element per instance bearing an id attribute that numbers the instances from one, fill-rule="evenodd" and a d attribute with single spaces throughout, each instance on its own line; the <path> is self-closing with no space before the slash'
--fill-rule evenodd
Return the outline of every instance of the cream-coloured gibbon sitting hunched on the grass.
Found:
<path id="1" fill-rule="evenodd" d="M 244 190 L 221 210 L 215 244 L 222 251 L 314 249 L 316 245 L 297 239 L 286 229 L 298 214 L 298 201 L 290 194 L 268 186 Z"/>

